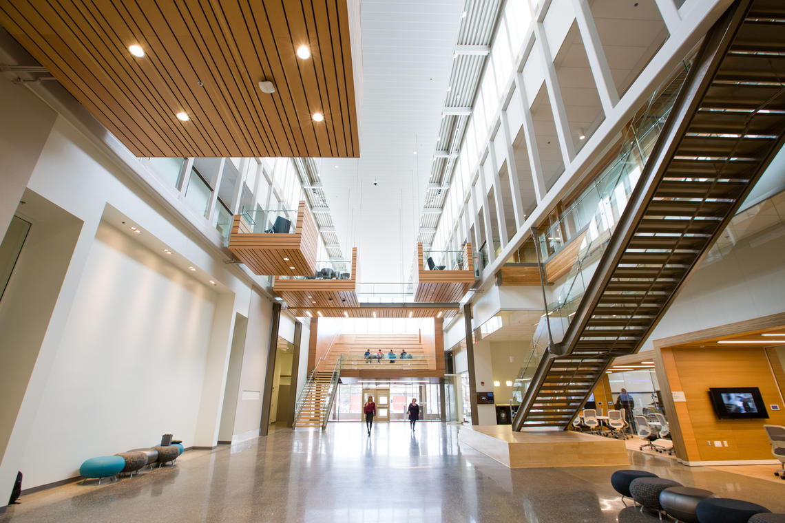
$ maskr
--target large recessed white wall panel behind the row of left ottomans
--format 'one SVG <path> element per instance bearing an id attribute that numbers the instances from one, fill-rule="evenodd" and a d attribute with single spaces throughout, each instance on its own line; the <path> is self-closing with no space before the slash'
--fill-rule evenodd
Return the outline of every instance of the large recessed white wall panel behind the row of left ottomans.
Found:
<path id="1" fill-rule="evenodd" d="M 164 433 L 190 445 L 215 300 L 101 225 L 28 439 L 26 486 L 73 477 L 84 459 L 154 445 Z"/>

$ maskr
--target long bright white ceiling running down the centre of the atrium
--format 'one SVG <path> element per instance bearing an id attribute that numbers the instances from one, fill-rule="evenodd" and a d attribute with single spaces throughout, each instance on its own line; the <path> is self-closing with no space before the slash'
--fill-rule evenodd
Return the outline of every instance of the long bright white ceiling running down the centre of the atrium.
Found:
<path id="1" fill-rule="evenodd" d="M 341 250 L 358 248 L 362 281 L 407 281 L 411 274 L 463 3 L 361 4 L 360 158 L 317 163 Z"/>

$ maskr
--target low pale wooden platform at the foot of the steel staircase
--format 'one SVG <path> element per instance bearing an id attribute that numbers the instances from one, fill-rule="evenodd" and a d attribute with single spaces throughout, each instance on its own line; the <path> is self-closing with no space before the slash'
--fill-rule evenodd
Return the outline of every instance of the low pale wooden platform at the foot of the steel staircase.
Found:
<path id="1" fill-rule="evenodd" d="M 509 425 L 464 425 L 458 441 L 513 469 L 630 465 L 623 440 L 571 430 L 513 432 Z"/>

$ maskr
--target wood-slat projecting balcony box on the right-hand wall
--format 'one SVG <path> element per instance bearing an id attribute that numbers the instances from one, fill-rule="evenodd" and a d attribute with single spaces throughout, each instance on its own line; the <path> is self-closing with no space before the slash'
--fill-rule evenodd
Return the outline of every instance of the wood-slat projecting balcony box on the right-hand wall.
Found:
<path id="1" fill-rule="evenodd" d="M 459 302 L 474 283 L 474 261 L 472 244 L 463 246 L 462 264 L 464 269 L 445 268 L 431 271 L 423 265 L 422 243 L 417 244 L 417 292 L 415 302 Z"/>

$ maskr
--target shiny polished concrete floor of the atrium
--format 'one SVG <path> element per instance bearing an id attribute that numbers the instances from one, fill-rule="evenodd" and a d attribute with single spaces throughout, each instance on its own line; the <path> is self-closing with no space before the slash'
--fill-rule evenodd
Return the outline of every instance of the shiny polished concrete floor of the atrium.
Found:
<path id="1" fill-rule="evenodd" d="M 97 486 L 22 496 L 14 521 L 658 521 L 625 507 L 608 481 L 618 467 L 510 470 L 458 444 L 458 427 L 331 423 L 325 432 L 276 430 L 174 467 Z M 720 496 L 785 512 L 785 481 L 747 478 L 630 452 L 632 466 Z"/>

